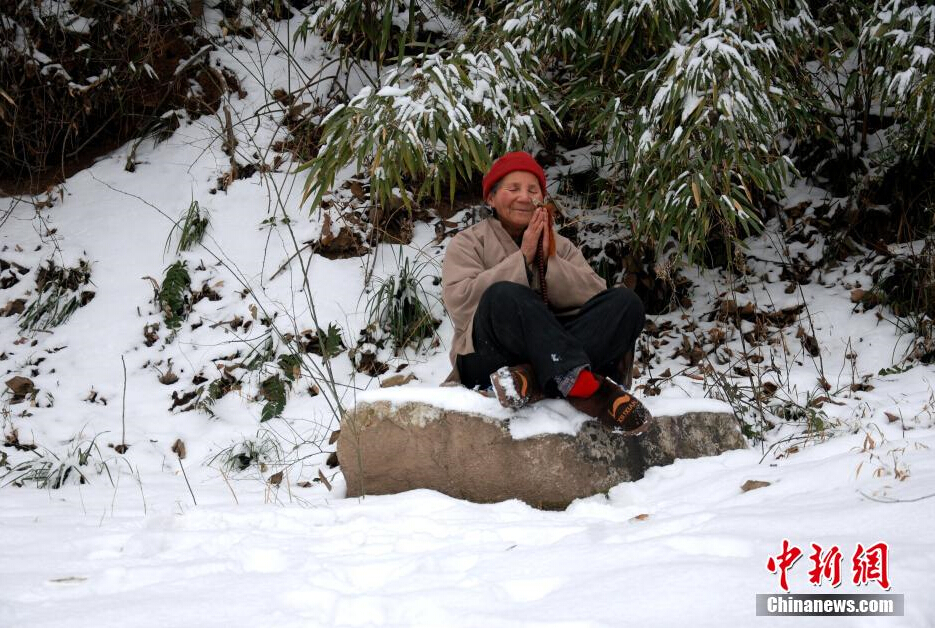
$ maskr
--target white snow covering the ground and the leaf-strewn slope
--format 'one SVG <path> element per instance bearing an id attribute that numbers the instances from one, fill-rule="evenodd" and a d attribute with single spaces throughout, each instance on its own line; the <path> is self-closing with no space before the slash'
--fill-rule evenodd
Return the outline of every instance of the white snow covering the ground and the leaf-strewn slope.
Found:
<path id="1" fill-rule="evenodd" d="M 267 38 L 258 49 L 215 53 L 238 69 L 248 92 L 230 102 L 235 119 L 245 121 L 237 128 L 241 163 L 256 161 L 250 157 L 255 147 L 277 133 L 281 114 L 252 117 L 267 100 L 257 82 L 258 59 L 265 60 L 265 76 L 286 76 L 285 61 L 269 50 Z M 297 56 L 315 67 L 321 55 L 311 38 Z M 267 88 L 285 86 L 285 80 Z M 210 413 L 170 408 L 173 394 L 196 389 L 196 375 L 210 381 L 222 366 L 245 359 L 243 353 L 231 357 L 243 352 L 243 341 L 261 345 L 269 328 L 265 317 L 286 332 L 334 323 L 354 347 L 368 321 L 362 290 L 370 265 L 379 280 L 407 256 L 425 261 L 433 275 L 440 274 L 444 255 L 444 243 L 434 242 L 435 230 L 425 223 L 416 224 L 412 244 L 381 245 L 376 259 L 315 256 L 309 262 L 306 250 L 313 314 L 302 266 L 286 263 L 295 253 L 289 228 L 299 246 L 322 229 L 321 215 L 308 215 L 299 204 L 301 175 L 283 166 L 236 181 L 226 193 L 210 193 L 228 168 L 221 131 L 212 118 L 183 126 L 164 144 L 144 146 L 134 173 L 124 170 L 127 149 L 119 150 L 72 177 L 50 208 L 37 210 L 31 199 L 4 201 L 0 259 L 29 272 L 0 290 L 0 308 L 31 298 L 35 272 L 48 259 L 60 266 L 90 262 L 88 289 L 95 296 L 49 332 L 25 333 L 16 316 L 0 318 L 3 380 L 28 377 L 38 390 L 19 403 L 4 394 L 4 438 L 21 445 L 0 448 L 7 464 L 38 454 L 67 460 L 76 448 L 91 453 L 90 464 L 81 467 L 87 484 L 52 490 L 10 485 L 11 475 L 0 480 L 0 627 L 935 625 L 929 581 L 935 567 L 935 369 L 890 368 L 901 364 L 911 337 L 880 320 L 878 310 L 855 311 L 850 290 L 858 281 L 865 288 L 871 283 L 856 260 L 816 273 L 787 293 L 775 263 L 778 248 L 763 236 L 750 243 L 760 279 L 735 295 L 739 304 L 753 301 L 762 309 L 807 305 L 800 322 L 777 335 L 788 351 L 767 352 L 762 364 L 785 356 L 764 378 L 777 385 L 778 396 L 813 409 L 812 431 L 800 422 L 783 423 L 762 445 L 651 469 L 638 482 L 579 500 L 564 512 L 520 502 L 478 505 L 431 491 L 344 498 L 339 470 L 325 464 L 328 436 L 338 427 L 332 410 L 338 399 L 345 406 L 358 397 L 423 399 L 504 415 L 476 393 L 434 388 L 449 369 L 447 319 L 434 349 L 380 354 L 391 367 L 387 375 L 399 369 L 416 376 L 401 388 L 379 389 L 376 379 L 354 370 L 345 352 L 331 362 L 334 393 L 312 396 L 303 378 L 281 418 L 261 424 L 263 402 L 254 399 L 271 370 L 261 375 L 234 368 L 242 387 Z M 272 155 L 265 160 L 271 163 Z M 271 211 L 277 199 L 288 225 L 282 209 Z M 211 223 L 203 246 L 176 254 L 177 234 L 169 239 L 170 231 L 192 200 Z M 275 224 L 265 222 L 274 215 Z M 803 245 L 788 254 L 814 250 Z M 220 299 L 195 304 L 172 337 L 146 278 L 161 281 L 176 259 L 188 262 L 193 289 L 208 285 Z M 650 378 L 661 378 L 653 380 L 659 395 L 645 397 L 656 414 L 724 404 L 713 399 L 719 390 L 709 387 L 711 378 L 674 355 L 683 333 L 711 333 L 716 323 L 707 315 L 727 290 L 717 273 L 688 274 L 693 306 L 654 317 L 657 326 L 673 328 L 656 339 L 652 369 L 635 382 L 640 391 Z M 437 295 L 430 284 L 424 283 Z M 249 328 L 244 321 L 251 321 Z M 156 323 L 158 340 L 146 346 L 144 327 Z M 683 332 L 690 324 L 694 331 Z M 799 325 L 814 336 L 820 359 L 803 349 Z M 725 346 L 736 354 L 739 335 Z M 662 376 L 666 370 L 674 376 Z M 169 371 L 178 380 L 160 382 L 169 381 Z M 820 377 L 830 390 L 819 386 Z M 738 385 L 746 381 L 736 379 Z M 121 443 L 122 419 L 129 449 L 119 454 L 113 446 Z M 581 420 L 551 401 L 524 409 L 511 427 L 521 438 L 568 431 Z M 182 460 L 173 451 L 179 440 Z M 262 450 L 262 467 L 237 472 L 225 466 L 250 443 Z M 281 481 L 270 482 L 278 471 Z M 748 480 L 770 484 L 743 491 Z M 782 551 L 784 539 L 803 552 L 789 571 L 794 593 L 882 593 L 875 581 L 851 582 L 851 558 L 857 544 L 886 543 L 889 592 L 905 596 L 905 615 L 756 617 L 755 595 L 781 591 L 767 561 Z M 809 582 L 812 544 L 840 548 L 839 587 Z"/>

